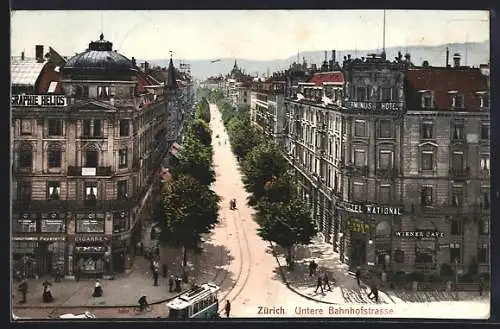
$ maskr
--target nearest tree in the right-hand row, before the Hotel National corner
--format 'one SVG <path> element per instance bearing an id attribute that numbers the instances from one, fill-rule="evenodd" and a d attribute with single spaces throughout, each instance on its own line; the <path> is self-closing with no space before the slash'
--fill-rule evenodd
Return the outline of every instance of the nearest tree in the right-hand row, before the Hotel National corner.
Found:
<path id="1" fill-rule="evenodd" d="M 262 239 L 275 242 L 286 250 L 290 269 L 293 269 L 293 247 L 309 245 L 317 234 L 309 206 L 297 197 L 291 202 L 260 202 L 256 222 Z"/>

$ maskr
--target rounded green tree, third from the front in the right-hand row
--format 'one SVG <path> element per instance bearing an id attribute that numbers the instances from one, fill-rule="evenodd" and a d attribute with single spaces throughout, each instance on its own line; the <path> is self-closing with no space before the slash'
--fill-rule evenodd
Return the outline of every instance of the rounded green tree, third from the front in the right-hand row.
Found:
<path id="1" fill-rule="evenodd" d="M 265 196 L 265 184 L 283 176 L 288 169 L 288 164 L 276 145 L 262 143 L 254 147 L 245 157 L 243 162 L 243 183 L 248 192 L 250 205 Z"/>

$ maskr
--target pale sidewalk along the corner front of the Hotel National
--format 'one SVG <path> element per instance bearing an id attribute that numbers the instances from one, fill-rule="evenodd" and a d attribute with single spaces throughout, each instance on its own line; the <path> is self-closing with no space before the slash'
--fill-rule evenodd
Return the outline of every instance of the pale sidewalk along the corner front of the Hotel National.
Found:
<path id="1" fill-rule="evenodd" d="M 324 242 L 322 234 L 318 234 L 309 246 L 297 246 L 295 249 L 294 270 L 286 266 L 285 253 L 279 246 L 274 246 L 279 271 L 287 286 L 295 293 L 310 300 L 325 304 L 363 303 L 375 304 L 368 298 L 369 288 L 361 282 L 358 286 L 355 274 L 350 272 L 347 264 L 339 260 L 339 255 L 333 252 L 331 244 Z M 314 260 L 318 264 L 315 275 L 309 277 L 309 263 Z M 328 274 L 332 291 L 324 293 L 316 290 L 319 275 Z M 488 299 L 488 292 L 480 297 L 477 292 L 459 292 L 459 300 Z M 395 304 L 406 302 L 436 302 L 457 300 L 455 293 L 443 291 L 381 291 L 378 304 Z"/>

